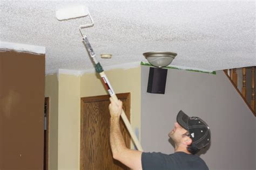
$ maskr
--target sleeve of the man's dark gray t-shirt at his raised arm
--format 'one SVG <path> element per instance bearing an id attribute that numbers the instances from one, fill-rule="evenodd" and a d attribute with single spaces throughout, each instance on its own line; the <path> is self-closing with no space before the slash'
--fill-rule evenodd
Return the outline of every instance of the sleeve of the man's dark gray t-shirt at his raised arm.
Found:
<path id="1" fill-rule="evenodd" d="M 165 159 L 163 153 L 143 152 L 142 153 L 142 169 L 165 169 Z"/>

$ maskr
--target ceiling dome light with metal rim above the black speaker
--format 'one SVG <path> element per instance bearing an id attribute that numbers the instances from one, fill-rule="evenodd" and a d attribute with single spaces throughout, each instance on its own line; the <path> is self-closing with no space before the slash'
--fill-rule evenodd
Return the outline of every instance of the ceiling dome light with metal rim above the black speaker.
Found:
<path id="1" fill-rule="evenodd" d="M 166 67 L 170 65 L 177 53 L 172 52 L 147 52 L 143 53 L 147 61 L 155 67 Z"/>

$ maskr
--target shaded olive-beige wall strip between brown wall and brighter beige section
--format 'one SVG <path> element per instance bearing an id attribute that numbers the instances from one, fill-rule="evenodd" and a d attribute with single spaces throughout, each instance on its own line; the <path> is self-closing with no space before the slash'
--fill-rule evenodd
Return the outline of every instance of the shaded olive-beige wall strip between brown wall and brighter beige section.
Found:
<path id="1" fill-rule="evenodd" d="M 58 87 L 57 74 L 45 76 L 45 97 L 49 97 L 49 170 L 58 169 Z"/>

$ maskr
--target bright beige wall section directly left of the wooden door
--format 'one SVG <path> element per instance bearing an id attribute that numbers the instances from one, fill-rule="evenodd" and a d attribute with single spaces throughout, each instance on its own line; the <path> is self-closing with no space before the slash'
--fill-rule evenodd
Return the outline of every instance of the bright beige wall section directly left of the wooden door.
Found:
<path id="1" fill-rule="evenodd" d="M 80 77 L 59 74 L 58 169 L 79 169 Z"/>

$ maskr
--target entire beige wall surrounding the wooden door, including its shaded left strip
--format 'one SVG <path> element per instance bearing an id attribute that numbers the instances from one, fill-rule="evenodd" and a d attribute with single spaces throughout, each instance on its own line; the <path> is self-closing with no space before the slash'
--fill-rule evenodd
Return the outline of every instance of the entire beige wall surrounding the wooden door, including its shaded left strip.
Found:
<path id="1" fill-rule="evenodd" d="M 134 131 L 136 128 L 140 130 L 140 67 L 113 69 L 105 71 L 105 74 L 116 94 L 131 93 L 131 124 Z M 55 132 L 57 129 L 58 154 L 50 151 L 50 159 L 57 162 L 58 169 L 79 169 L 80 97 L 107 95 L 107 92 L 98 74 L 86 73 L 82 76 L 59 74 L 58 80 L 56 75 L 46 76 L 45 94 L 50 96 L 50 115 L 51 111 L 57 110 L 58 120 L 58 126 L 50 130 Z M 55 103 L 52 101 L 53 96 L 58 96 Z M 55 141 L 50 142 L 55 144 Z M 56 164 L 51 164 L 50 169 L 55 167 Z"/>

